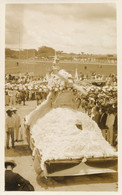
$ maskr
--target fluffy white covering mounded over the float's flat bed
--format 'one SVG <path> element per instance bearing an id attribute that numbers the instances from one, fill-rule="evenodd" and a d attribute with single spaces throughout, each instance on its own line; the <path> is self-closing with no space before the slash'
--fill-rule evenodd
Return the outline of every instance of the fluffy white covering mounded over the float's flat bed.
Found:
<path id="1" fill-rule="evenodd" d="M 76 127 L 78 121 L 83 130 Z M 87 114 L 68 108 L 52 109 L 37 120 L 31 134 L 42 155 L 43 170 L 46 160 L 117 155 Z"/>

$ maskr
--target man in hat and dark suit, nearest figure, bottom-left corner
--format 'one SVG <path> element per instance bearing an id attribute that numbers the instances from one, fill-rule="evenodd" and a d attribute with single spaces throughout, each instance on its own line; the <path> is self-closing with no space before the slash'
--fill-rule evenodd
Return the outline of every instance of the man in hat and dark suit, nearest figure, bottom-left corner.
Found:
<path id="1" fill-rule="evenodd" d="M 16 166 L 14 160 L 5 161 L 5 191 L 34 191 L 29 181 L 13 172 Z"/>

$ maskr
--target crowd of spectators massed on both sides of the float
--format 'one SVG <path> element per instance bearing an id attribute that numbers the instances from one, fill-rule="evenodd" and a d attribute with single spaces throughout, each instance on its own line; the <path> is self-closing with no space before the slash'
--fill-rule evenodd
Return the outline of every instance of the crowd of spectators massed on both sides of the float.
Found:
<path id="1" fill-rule="evenodd" d="M 101 82 L 100 82 L 101 81 Z M 75 82 L 75 78 L 74 78 Z M 111 145 L 117 145 L 117 77 L 108 77 L 92 73 L 91 76 L 80 74 L 76 81 L 84 85 L 87 95 L 76 90 L 78 109 L 87 113 L 101 128 L 103 136 Z M 49 93 L 47 77 L 34 78 L 28 74 L 21 76 L 6 75 L 5 104 L 26 105 L 26 101 L 36 100 L 37 105 L 44 101 Z"/>

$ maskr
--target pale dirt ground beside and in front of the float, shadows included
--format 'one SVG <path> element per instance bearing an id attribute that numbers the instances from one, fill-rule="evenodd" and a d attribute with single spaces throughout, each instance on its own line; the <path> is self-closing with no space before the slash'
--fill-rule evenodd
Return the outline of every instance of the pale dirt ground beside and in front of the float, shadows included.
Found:
<path id="1" fill-rule="evenodd" d="M 35 107 L 35 101 L 27 102 L 25 106 L 16 106 L 22 121 L 23 117 Z M 15 149 L 5 149 L 5 156 L 15 160 L 17 167 L 14 171 L 29 180 L 35 191 L 118 191 L 117 173 L 64 177 L 62 181 L 56 181 L 52 178 L 40 178 L 34 170 L 33 159 L 26 142 L 24 130 L 21 131 L 20 136 L 24 140 L 15 143 Z"/>

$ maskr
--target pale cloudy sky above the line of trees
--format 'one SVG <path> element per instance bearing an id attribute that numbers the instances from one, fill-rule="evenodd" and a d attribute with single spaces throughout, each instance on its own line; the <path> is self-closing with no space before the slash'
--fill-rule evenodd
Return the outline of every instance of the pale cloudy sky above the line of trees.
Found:
<path id="1" fill-rule="evenodd" d="M 6 47 L 116 54 L 115 3 L 7 4 Z"/>

